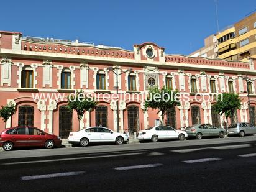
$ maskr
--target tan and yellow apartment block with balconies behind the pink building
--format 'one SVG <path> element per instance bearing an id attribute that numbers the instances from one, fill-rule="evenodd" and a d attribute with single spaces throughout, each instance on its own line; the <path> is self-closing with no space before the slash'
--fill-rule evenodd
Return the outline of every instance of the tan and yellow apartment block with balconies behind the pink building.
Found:
<path id="1" fill-rule="evenodd" d="M 214 50 L 214 55 L 206 53 L 209 43 L 206 39 L 216 37 L 217 42 L 212 44 L 217 45 Z M 206 58 L 222 58 L 225 60 L 235 61 L 241 60 L 247 62 L 248 58 L 256 57 L 256 12 L 250 14 L 232 26 L 226 27 L 216 35 L 211 35 L 204 40 L 205 46 L 201 49 L 201 53 L 196 55 L 196 52 L 191 53 L 190 57 L 206 57 Z M 214 39 L 214 38 L 213 38 Z M 214 57 L 213 57 L 214 56 Z"/>

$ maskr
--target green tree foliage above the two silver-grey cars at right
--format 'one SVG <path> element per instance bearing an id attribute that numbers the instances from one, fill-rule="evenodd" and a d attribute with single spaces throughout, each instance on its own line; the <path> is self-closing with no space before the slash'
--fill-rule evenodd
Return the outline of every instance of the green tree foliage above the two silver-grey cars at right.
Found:
<path id="1" fill-rule="evenodd" d="M 216 114 L 224 114 L 226 119 L 232 117 L 237 109 L 241 107 L 241 99 L 235 93 L 223 93 L 218 95 L 216 104 L 213 105 L 213 110 Z"/>

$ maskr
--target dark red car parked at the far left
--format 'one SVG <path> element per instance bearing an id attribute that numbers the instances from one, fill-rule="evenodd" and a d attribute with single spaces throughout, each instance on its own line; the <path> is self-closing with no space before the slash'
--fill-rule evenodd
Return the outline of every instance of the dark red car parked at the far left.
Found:
<path id="1" fill-rule="evenodd" d="M 61 144 L 60 137 L 47 134 L 36 127 L 12 127 L 0 134 L 0 147 L 6 151 L 26 146 L 45 146 L 50 149 Z"/>

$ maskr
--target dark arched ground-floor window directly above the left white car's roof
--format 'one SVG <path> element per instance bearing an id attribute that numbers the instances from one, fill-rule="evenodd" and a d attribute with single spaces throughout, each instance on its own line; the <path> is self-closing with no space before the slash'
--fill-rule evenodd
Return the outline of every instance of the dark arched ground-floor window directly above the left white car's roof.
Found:
<path id="1" fill-rule="evenodd" d="M 96 126 L 107 127 L 107 106 L 96 106 L 95 120 Z"/>

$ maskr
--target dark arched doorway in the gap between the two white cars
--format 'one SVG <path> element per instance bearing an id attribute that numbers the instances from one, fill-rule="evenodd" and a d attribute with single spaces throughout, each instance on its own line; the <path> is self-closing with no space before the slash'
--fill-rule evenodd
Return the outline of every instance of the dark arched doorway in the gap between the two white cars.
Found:
<path id="1" fill-rule="evenodd" d="M 134 135 L 134 132 L 139 131 L 139 107 L 131 105 L 127 107 L 127 111 L 129 134 Z"/>

